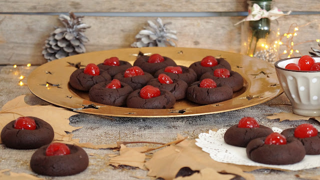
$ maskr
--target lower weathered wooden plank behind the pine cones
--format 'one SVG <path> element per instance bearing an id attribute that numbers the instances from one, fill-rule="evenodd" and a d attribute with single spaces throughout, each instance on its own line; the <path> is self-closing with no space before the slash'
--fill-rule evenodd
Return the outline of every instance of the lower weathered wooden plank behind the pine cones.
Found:
<path id="1" fill-rule="evenodd" d="M 286 32 L 293 22 L 303 25 L 319 17 L 320 14 L 281 17 L 280 32 Z M 233 24 L 242 18 L 163 17 L 162 20 L 171 21 L 168 27 L 178 32 L 177 46 L 240 52 L 240 25 Z M 85 32 L 90 40 L 85 43 L 87 52 L 130 47 L 135 41 L 134 36 L 147 25 L 147 20 L 155 20 L 155 17 L 84 17 L 83 21 L 91 25 Z M 61 24 L 53 15 L 0 15 L 0 64 L 46 62 L 41 50 L 54 25 Z M 295 43 L 315 40 L 319 38 L 319 31 L 320 26 L 316 22 L 300 27 L 294 37 Z M 307 54 L 311 46 L 318 47 L 317 42 L 301 44 L 298 49 Z"/>

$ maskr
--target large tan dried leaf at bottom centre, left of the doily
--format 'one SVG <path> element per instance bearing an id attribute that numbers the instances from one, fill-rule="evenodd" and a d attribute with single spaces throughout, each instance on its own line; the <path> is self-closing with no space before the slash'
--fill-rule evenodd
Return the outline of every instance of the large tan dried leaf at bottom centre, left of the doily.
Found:
<path id="1" fill-rule="evenodd" d="M 208 153 L 195 145 L 195 140 L 183 140 L 176 145 L 170 145 L 153 154 L 151 159 L 145 162 L 149 169 L 148 175 L 173 179 L 182 167 L 192 170 L 201 170 L 206 167 L 216 172 L 237 174 L 245 179 L 254 179 L 252 174 L 244 173 L 240 168 L 214 161 Z"/>

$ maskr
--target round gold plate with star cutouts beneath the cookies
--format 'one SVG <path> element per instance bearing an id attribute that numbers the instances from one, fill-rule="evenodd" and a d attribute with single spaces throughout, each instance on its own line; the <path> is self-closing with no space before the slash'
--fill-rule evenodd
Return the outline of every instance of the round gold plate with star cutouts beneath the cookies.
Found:
<path id="1" fill-rule="evenodd" d="M 233 71 L 242 75 L 244 86 L 233 94 L 232 99 L 215 104 L 199 105 L 188 100 L 178 100 L 170 109 L 137 109 L 92 102 L 87 93 L 77 91 L 68 84 L 76 65 L 84 67 L 88 63 L 98 64 L 112 56 L 133 64 L 139 52 L 145 55 L 159 53 L 184 66 L 200 61 L 207 55 L 221 56 L 231 64 Z M 34 95 L 55 105 L 77 112 L 121 117 L 175 117 L 219 113 L 253 106 L 283 92 L 273 64 L 232 52 L 186 47 L 122 48 L 73 55 L 37 67 L 29 75 L 27 85 Z"/>

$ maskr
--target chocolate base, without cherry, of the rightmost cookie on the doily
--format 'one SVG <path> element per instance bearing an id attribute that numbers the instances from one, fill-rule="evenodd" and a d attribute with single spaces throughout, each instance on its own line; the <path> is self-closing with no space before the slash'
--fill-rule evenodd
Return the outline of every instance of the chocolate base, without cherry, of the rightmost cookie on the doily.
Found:
<path id="1" fill-rule="evenodd" d="M 295 127 L 284 129 L 281 132 L 281 134 L 287 138 L 294 137 L 298 139 L 300 142 L 302 142 L 306 154 L 308 155 L 320 154 L 320 133 L 318 133 L 316 136 L 313 136 L 313 137 L 298 138 L 294 136 L 294 130 L 295 130 Z"/>

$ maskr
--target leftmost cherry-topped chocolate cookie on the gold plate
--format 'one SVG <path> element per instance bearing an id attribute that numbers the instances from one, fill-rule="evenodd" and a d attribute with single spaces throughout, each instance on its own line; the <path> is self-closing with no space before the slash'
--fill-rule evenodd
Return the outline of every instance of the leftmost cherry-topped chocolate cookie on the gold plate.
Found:
<path id="1" fill-rule="evenodd" d="M 89 91 L 94 84 L 111 79 L 107 71 L 89 63 L 85 68 L 76 69 L 72 72 L 69 83 L 77 90 Z"/>

